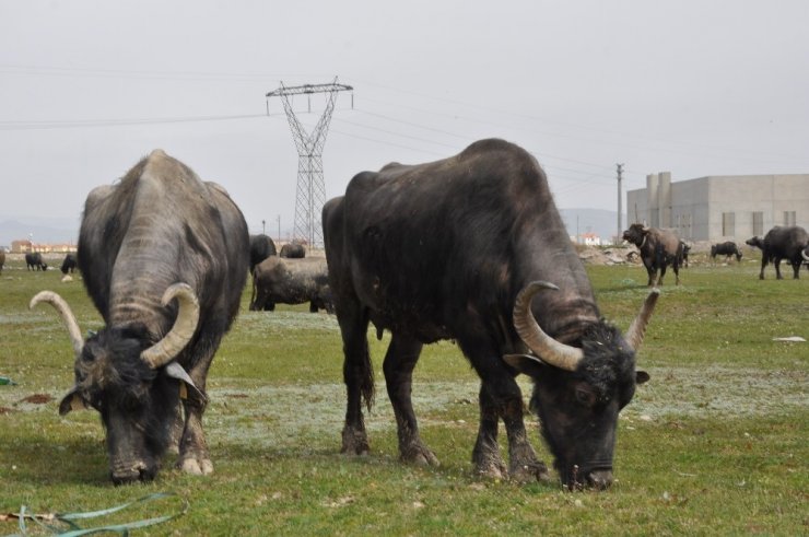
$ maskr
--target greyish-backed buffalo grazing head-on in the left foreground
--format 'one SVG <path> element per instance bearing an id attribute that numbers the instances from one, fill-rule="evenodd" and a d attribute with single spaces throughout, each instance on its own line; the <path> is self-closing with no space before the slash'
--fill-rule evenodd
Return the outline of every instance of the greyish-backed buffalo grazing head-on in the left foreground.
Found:
<path id="1" fill-rule="evenodd" d="M 78 261 L 104 328 L 83 341 L 58 294 L 31 301 L 59 311 L 75 353 L 75 386 L 59 412 L 101 412 L 115 483 L 154 478 L 177 440 L 177 466 L 210 474 L 206 377 L 247 279 L 242 211 L 222 187 L 156 150 L 90 192 Z"/>

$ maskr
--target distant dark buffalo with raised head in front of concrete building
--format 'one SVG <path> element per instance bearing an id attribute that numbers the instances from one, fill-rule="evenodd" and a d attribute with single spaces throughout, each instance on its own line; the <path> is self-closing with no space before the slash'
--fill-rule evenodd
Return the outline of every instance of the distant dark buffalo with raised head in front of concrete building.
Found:
<path id="1" fill-rule="evenodd" d="M 646 227 L 643 224 L 632 224 L 623 232 L 623 240 L 628 241 L 641 252 L 641 260 L 649 275 L 648 285 L 663 285 L 666 267 L 671 265 L 675 271 L 675 283 L 680 284 L 680 262 L 682 260 L 682 242 L 676 233 L 669 230 Z M 660 271 L 659 278 L 657 271 Z"/>

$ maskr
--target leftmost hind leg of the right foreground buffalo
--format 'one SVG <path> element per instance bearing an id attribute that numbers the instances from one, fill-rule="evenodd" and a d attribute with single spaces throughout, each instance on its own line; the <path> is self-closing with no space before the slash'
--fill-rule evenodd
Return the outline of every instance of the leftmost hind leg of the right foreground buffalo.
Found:
<path id="1" fill-rule="evenodd" d="M 365 455 L 370 446 L 362 416 L 362 398 L 365 397 L 370 407 L 374 393 L 374 372 L 367 340 L 368 318 L 357 302 L 344 310 L 338 315 L 345 355 L 343 382 L 348 399 L 340 453 Z"/>

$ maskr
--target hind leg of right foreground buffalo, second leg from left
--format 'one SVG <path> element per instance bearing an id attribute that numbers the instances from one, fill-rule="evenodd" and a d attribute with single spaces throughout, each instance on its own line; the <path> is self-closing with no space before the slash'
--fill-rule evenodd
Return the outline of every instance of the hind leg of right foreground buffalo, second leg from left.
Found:
<path id="1" fill-rule="evenodd" d="M 419 435 L 411 399 L 413 367 L 419 361 L 421 348 L 421 342 L 394 334 L 383 370 L 388 397 L 396 415 L 401 459 L 406 463 L 437 466 L 438 459 Z"/>

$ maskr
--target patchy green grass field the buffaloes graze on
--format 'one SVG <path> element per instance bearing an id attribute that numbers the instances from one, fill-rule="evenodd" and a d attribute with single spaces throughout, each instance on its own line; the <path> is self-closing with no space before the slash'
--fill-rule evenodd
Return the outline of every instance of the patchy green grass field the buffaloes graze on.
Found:
<path id="1" fill-rule="evenodd" d="M 681 272 L 668 285 L 638 355 L 652 381 L 619 421 L 606 492 L 515 485 L 473 475 L 478 381 L 458 349 L 425 348 L 413 383 L 422 436 L 437 468 L 398 462 L 382 357 L 371 337 L 377 404 L 372 454 L 339 454 L 344 413 L 337 322 L 305 306 L 242 313 L 209 376 L 206 430 L 215 472 L 114 487 L 94 411 L 60 418 L 72 355 L 56 313 L 28 300 L 59 291 L 83 330 L 101 318 L 78 280 L 7 262 L 0 276 L 0 514 L 94 511 L 160 491 L 187 512 L 143 535 L 807 535 L 809 534 L 809 272 L 776 281 L 758 264 Z M 645 271 L 588 267 L 602 314 L 625 329 L 646 295 Z M 370 334 L 371 335 L 371 334 Z M 527 393 L 527 382 L 521 382 Z M 34 396 L 34 397 L 32 397 Z M 534 418 L 531 440 L 549 464 Z M 502 445 L 505 448 L 505 445 Z M 171 514 L 179 500 L 131 507 L 104 524 Z M 97 522 L 87 522 L 87 527 Z M 15 533 L 0 522 L 0 535 Z"/>

